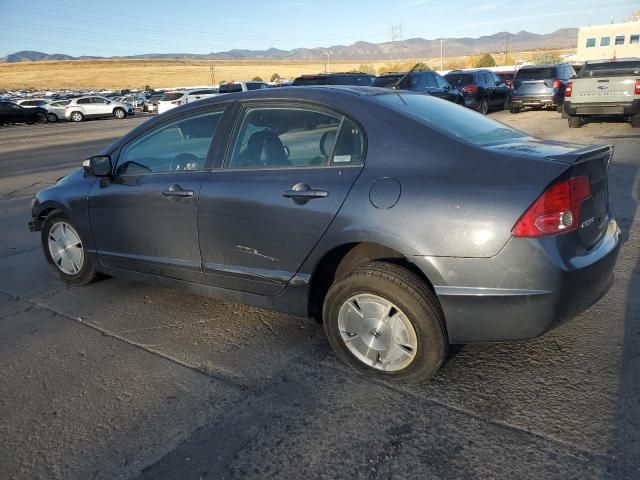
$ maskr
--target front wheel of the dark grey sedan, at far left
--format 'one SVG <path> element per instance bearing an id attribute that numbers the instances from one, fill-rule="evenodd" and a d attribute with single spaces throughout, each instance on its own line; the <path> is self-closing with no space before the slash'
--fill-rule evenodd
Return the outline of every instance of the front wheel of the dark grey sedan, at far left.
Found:
<path id="1" fill-rule="evenodd" d="M 86 246 L 65 215 L 54 213 L 47 217 L 42 229 L 42 247 L 47 260 L 65 282 L 87 285 L 95 280 L 97 273 Z"/>

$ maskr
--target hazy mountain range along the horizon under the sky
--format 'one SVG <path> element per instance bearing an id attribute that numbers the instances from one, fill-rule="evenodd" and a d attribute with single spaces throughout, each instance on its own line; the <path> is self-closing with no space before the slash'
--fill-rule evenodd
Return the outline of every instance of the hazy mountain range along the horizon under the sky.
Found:
<path id="1" fill-rule="evenodd" d="M 447 38 L 444 40 L 446 56 L 474 55 L 485 52 L 519 52 L 537 49 L 575 48 L 578 40 L 577 28 L 562 28 L 553 33 L 537 34 L 527 31 L 518 33 L 499 32 L 479 38 Z M 41 60 L 90 60 L 90 59 L 158 59 L 158 60 L 297 60 L 318 61 L 331 52 L 332 60 L 386 60 L 399 58 L 434 58 L 440 56 L 440 40 L 410 38 L 384 43 L 356 42 L 352 45 L 331 47 L 295 48 L 293 50 L 228 50 L 205 54 L 193 53 L 149 53 L 121 57 L 81 56 L 72 57 L 60 53 L 47 54 L 35 51 L 12 53 L 0 58 L 3 63 Z"/>

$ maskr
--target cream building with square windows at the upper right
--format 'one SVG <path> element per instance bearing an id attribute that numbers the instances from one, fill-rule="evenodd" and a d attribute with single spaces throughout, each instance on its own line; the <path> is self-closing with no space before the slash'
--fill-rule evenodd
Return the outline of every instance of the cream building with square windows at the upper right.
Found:
<path id="1" fill-rule="evenodd" d="M 582 27 L 577 61 L 640 57 L 640 21 Z"/>

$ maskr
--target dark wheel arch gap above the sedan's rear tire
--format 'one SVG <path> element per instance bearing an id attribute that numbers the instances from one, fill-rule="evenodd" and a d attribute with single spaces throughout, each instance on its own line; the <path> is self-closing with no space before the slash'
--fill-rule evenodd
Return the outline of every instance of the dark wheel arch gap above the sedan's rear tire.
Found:
<path id="1" fill-rule="evenodd" d="M 372 260 L 386 261 L 402 266 L 420 277 L 427 288 L 435 293 L 432 280 L 410 260 L 411 257 L 376 242 L 351 242 L 333 247 L 316 263 L 309 280 L 307 314 L 322 323 L 322 305 L 331 284 L 358 265 Z"/>

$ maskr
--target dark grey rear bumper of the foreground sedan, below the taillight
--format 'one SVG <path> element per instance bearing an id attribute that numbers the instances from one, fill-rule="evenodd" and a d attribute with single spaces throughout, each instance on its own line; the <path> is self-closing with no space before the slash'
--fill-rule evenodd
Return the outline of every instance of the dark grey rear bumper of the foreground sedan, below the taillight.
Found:
<path id="1" fill-rule="evenodd" d="M 554 237 L 512 238 L 493 258 L 417 257 L 435 291 L 451 343 L 538 337 L 596 303 L 610 288 L 620 248 L 611 220 L 584 255 L 563 259 Z M 437 275 L 436 275 L 437 276 Z"/>

